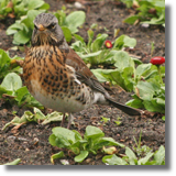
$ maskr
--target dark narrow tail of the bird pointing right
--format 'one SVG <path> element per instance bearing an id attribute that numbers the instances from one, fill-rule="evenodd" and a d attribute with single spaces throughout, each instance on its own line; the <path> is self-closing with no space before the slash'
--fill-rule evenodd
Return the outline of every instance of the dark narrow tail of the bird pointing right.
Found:
<path id="1" fill-rule="evenodd" d="M 134 108 L 128 107 L 125 105 L 119 103 L 114 99 L 112 99 L 111 97 L 106 97 L 106 99 L 109 101 L 110 105 L 122 110 L 127 114 L 130 114 L 130 116 L 141 116 L 142 114 L 142 110 L 140 110 L 140 109 L 134 109 Z"/>

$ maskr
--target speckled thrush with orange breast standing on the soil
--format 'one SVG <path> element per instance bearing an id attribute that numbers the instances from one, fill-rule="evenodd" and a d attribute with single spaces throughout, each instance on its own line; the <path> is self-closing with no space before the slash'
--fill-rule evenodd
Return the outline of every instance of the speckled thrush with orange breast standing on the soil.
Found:
<path id="1" fill-rule="evenodd" d="M 44 107 L 68 113 L 69 129 L 73 113 L 94 105 L 113 106 L 130 116 L 142 110 L 117 102 L 96 78 L 84 61 L 69 47 L 57 18 L 40 13 L 33 21 L 31 47 L 23 63 L 23 78 L 31 95 Z"/>

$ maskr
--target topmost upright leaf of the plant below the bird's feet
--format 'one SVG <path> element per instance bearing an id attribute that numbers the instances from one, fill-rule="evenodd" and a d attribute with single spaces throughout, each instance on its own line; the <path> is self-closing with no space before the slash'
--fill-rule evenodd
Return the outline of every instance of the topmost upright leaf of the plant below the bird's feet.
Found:
<path id="1" fill-rule="evenodd" d="M 85 139 L 97 139 L 101 136 L 105 136 L 105 133 L 99 128 L 87 125 Z"/>

